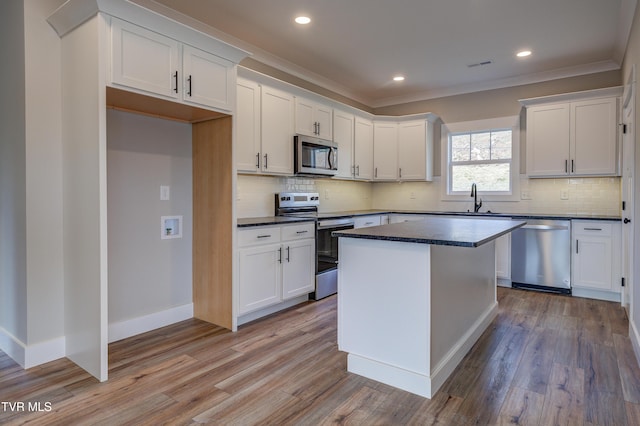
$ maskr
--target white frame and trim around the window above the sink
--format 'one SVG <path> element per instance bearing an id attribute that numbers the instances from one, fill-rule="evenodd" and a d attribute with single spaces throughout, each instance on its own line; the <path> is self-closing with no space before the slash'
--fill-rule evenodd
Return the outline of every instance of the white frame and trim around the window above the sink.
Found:
<path id="1" fill-rule="evenodd" d="M 451 133 L 477 133 L 490 130 L 511 129 L 511 190 L 504 192 L 482 191 L 478 188 L 478 196 L 484 201 L 519 201 L 520 200 L 520 116 L 490 118 L 486 120 L 446 123 L 441 127 L 441 192 L 443 201 L 469 201 L 469 192 L 451 192 L 451 176 L 449 158 L 451 158 L 449 135 Z"/>

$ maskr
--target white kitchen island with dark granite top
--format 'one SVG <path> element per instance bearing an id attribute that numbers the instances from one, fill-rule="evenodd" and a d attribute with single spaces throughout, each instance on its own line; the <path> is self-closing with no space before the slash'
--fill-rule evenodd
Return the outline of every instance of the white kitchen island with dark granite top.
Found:
<path id="1" fill-rule="evenodd" d="M 334 232 L 348 371 L 431 398 L 497 314 L 494 240 L 525 223 L 434 217 Z"/>

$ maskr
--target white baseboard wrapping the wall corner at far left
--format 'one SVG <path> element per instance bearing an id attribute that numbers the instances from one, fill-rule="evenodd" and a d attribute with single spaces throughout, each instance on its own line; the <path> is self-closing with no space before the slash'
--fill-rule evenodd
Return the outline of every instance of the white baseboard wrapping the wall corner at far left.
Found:
<path id="1" fill-rule="evenodd" d="M 0 349 L 25 369 L 64 358 L 66 355 L 64 336 L 25 345 L 2 327 L 0 327 Z"/>

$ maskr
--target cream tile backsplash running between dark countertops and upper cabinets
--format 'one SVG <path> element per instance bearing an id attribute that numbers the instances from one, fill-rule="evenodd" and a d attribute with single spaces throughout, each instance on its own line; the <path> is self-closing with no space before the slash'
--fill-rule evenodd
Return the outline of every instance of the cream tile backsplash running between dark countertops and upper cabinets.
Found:
<path id="1" fill-rule="evenodd" d="M 237 215 L 272 216 L 277 192 L 318 192 L 320 211 L 466 211 L 473 201 L 444 201 L 440 179 L 433 182 L 369 183 L 332 179 L 238 175 Z M 482 210 L 499 213 L 620 215 L 620 178 L 529 179 L 520 177 L 528 199 L 491 201 Z M 565 199 L 566 198 L 566 199 Z"/>

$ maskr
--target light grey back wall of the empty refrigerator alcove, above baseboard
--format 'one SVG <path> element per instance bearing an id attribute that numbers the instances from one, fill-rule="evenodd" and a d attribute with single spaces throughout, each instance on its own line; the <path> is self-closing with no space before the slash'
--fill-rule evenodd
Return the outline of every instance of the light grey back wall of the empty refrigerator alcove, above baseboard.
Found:
<path id="1" fill-rule="evenodd" d="M 109 324 L 191 304 L 191 125 L 108 110 L 107 179 Z M 183 237 L 162 240 L 174 215 Z"/>

